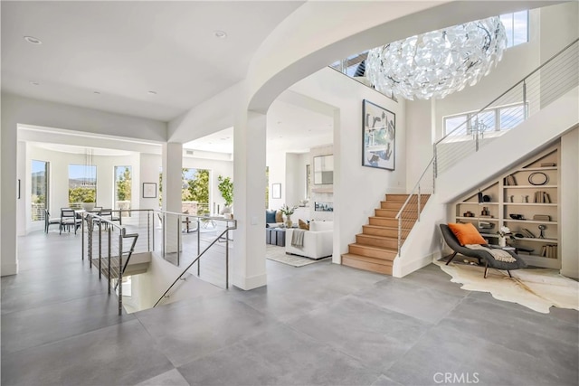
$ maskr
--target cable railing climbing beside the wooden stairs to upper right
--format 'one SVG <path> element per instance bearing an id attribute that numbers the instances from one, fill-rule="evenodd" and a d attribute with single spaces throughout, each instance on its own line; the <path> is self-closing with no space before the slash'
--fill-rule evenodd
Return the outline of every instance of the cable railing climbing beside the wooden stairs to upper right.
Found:
<path id="1" fill-rule="evenodd" d="M 477 113 L 470 114 L 433 146 L 432 159 L 418 178 L 398 220 L 398 255 L 415 221 L 420 221 L 423 192 L 434 193 L 438 175 L 467 155 L 502 136 L 579 85 L 579 39 L 567 45 L 523 80 Z M 492 114 L 494 118 L 492 117 Z"/>

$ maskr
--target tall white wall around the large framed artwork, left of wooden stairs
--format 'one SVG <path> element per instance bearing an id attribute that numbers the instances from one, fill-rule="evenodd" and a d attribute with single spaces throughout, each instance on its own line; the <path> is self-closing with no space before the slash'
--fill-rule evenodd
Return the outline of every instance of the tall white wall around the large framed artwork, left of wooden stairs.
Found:
<path id="1" fill-rule="evenodd" d="M 394 102 L 356 80 L 329 68 L 290 88 L 335 108 L 334 116 L 334 262 L 368 222 L 384 193 L 405 193 L 406 133 L 404 102 Z M 396 116 L 396 170 L 362 166 L 362 100 L 387 108 Z M 312 186 L 313 187 L 313 186 Z M 313 205 L 313 203 L 311 203 Z"/>

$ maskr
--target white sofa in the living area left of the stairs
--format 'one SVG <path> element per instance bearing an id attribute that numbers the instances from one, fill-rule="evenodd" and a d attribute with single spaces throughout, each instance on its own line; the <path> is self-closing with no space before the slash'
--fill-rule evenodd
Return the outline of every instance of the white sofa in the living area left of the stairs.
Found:
<path id="1" fill-rule="evenodd" d="M 286 231 L 286 253 L 309 259 L 321 259 L 332 255 L 334 221 L 311 221 L 309 231 L 304 232 L 304 242 L 301 247 L 291 245 L 294 231 L 296 230 Z"/>

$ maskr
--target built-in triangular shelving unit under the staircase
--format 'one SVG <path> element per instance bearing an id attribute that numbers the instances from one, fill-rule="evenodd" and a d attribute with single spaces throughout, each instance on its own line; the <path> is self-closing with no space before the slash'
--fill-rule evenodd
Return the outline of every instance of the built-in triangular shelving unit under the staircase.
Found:
<path id="1" fill-rule="evenodd" d="M 471 222 L 490 244 L 498 244 L 498 230 L 506 226 L 515 236 L 508 245 L 519 248 L 519 256 L 528 264 L 560 268 L 558 165 L 557 145 L 454 202 L 454 220 Z M 544 228 L 543 238 L 539 226 Z"/>

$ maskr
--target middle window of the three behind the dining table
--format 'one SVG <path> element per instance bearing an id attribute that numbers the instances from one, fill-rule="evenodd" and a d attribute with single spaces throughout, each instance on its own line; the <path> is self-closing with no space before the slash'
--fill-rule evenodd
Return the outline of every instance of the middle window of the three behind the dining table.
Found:
<path id="1" fill-rule="evenodd" d="M 97 202 L 96 165 L 69 165 L 69 205 L 81 208 L 82 202 Z"/>

